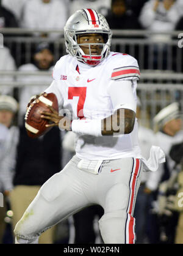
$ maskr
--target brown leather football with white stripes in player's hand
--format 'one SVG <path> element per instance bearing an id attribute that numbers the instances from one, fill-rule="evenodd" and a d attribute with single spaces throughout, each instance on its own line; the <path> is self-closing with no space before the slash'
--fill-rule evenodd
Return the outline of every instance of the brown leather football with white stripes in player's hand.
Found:
<path id="1" fill-rule="evenodd" d="M 50 124 L 50 122 L 41 118 L 42 111 L 51 113 L 51 110 L 47 105 L 59 112 L 57 97 L 54 93 L 43 94 L 38 97 L 38 100 L 38 102 L 35 100 L 32 102 L 32 105 L 29 106 L 25 115 L 25 127 L 28 136 L 31 138 L 40 137 L 41 135 L 46 134 L 46 132 L 52 128 L 46 127 L 46 124 Z"/>

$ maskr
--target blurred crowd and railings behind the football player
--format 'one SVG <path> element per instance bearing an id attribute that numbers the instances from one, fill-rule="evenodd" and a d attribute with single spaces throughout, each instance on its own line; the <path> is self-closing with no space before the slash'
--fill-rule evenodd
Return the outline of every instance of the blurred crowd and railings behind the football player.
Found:
<path id="1" fill-rule="evenodd" d="M 74 155 L 74 134 L 53 128 L 30 139 L 24 115 L 30 97 L 46 89 L 65 52 L 63 27 L 78 9 L 106 17 L 112 51 L 134 56 L 139 142 L 166 154 L 158 171 L 143 173 L 137 195 L 137 243 L 183 243 L 183 1 L 0 0 L 0 243 L 14 243 L 13 228 L 40 186 Z M 40 236 L 39 243 L 103 243 L 101 206 L 90 206 Z"/>

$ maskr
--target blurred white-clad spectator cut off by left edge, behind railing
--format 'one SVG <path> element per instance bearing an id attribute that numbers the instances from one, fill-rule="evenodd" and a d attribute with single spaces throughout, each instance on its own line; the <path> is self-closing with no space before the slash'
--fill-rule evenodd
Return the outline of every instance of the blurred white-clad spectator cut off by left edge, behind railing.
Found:
<path id="1" fill-rule="evenodd" d="M 0 70 L 1 71 L 15 71 L 15 61 L 10 54 L 10 50 L 7 47 L 0 48 Z M 14 77 L 12 75 L 1 75 L 1 83 L 12 82 Z M 0 94 L 13 94 L 13 89 L 10 86 L 1 86 Z"/>

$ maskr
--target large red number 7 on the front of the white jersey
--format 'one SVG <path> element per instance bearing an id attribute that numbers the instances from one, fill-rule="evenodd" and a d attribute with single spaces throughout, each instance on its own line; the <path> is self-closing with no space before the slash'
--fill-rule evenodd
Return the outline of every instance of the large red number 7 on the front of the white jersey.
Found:
<path id="1" fill-rule="evenodd" d="M 87 95 L 87 87 L 69 87 L 68 88 L 68 99 L 72 100 L 73 97 L 79 97 L 77 103 L 77 116 L 82 119 L 84 118 L 83 108 Z"/>

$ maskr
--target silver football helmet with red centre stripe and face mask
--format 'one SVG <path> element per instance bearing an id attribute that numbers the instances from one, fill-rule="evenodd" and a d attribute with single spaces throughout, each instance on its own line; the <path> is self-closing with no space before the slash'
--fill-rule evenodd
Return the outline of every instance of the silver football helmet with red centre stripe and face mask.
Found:
<path id="1" fill-rule="evenodd" d="M 81 34 L 99 33 L 104 38 L 104 43 L 87 43 L 90 54 L 85 55 L 81 45 L 77 43 L 77 37 Z M 77 10 L 65 24 L 64 27 L 66 52 L 90 66 L 96 66 L 109 55 L 112 32 L 106 18 L 93 9 Z M 100 45 L 100 55 L 91 55 L 91 45 Z"/>

